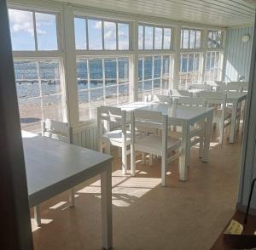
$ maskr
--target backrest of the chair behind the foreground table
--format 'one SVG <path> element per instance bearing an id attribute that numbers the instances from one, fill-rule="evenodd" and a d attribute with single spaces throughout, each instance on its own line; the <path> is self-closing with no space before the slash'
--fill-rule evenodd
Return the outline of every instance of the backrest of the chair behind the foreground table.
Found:
<path id="1" fill-rule="evenodd" d="M 73 143 L 73 128 L 67 122 L 59 122 L 52 119 L 45 119 L 41 123 L 42 136 L 51 139 L 61 140 L 67 143 Z"/>

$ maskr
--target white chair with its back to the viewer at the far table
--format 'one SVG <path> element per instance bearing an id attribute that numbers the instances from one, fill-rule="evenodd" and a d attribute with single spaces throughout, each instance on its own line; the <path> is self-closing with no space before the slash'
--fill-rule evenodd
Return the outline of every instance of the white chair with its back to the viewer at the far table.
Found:
<path id="1" fill-rule="evenodd" d="M 230 125 L 231 113 L 226 109 L 227 94 L 221 92 L 202 92 L 200 97 L 207 101 L 207 106 L 215 108 L 213 126 L 219 125 L 219 144 L 223 145 L 224 128 Z"/>

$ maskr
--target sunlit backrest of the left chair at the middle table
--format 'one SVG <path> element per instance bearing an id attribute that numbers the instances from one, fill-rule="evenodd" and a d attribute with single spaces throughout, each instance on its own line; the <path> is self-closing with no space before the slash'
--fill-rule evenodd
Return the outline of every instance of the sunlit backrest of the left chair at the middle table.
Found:
<path id="1" fill-rule="evenodd" d="M 126 137 L 126 111 L 122 111 L 120 108 L 113 106 L 100 106 L 97 108 L 97 129 L 98 136 L 101 136 L 105 132 L 110 131 L 110 122 L 116 123 L 123 132 L 123 136 Z M 114 127 L 114 126 L 113 126 Z"/>

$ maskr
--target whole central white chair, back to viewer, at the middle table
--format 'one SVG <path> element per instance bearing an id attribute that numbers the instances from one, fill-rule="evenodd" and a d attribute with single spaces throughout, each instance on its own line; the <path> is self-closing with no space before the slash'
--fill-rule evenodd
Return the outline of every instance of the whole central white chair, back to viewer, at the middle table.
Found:
<path id="1" fill-rule="evenodd" d="M 136 128 L 143 126 L 157 128 L 161 134 L 136 137 Z M 131 113 L 131 175 L 136 173 L 135 151 L 161 156 L 162 185 L 166 186 L 166 165 L 180 156 L 180 139 L 168 136 L 168 116 L 156 111 L 135 110 Z"/>

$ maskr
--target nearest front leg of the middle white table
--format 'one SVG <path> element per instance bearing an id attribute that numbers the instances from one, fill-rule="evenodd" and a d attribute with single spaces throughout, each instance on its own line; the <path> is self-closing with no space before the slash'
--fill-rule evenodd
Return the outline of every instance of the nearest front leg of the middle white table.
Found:
<path id="1" fill-rule="evenodd" d="M 182 181 L 188 179 L 189 150 L 189 123 L 183 122 L 181 156 L 179 162 L 179 179 Z"/>

